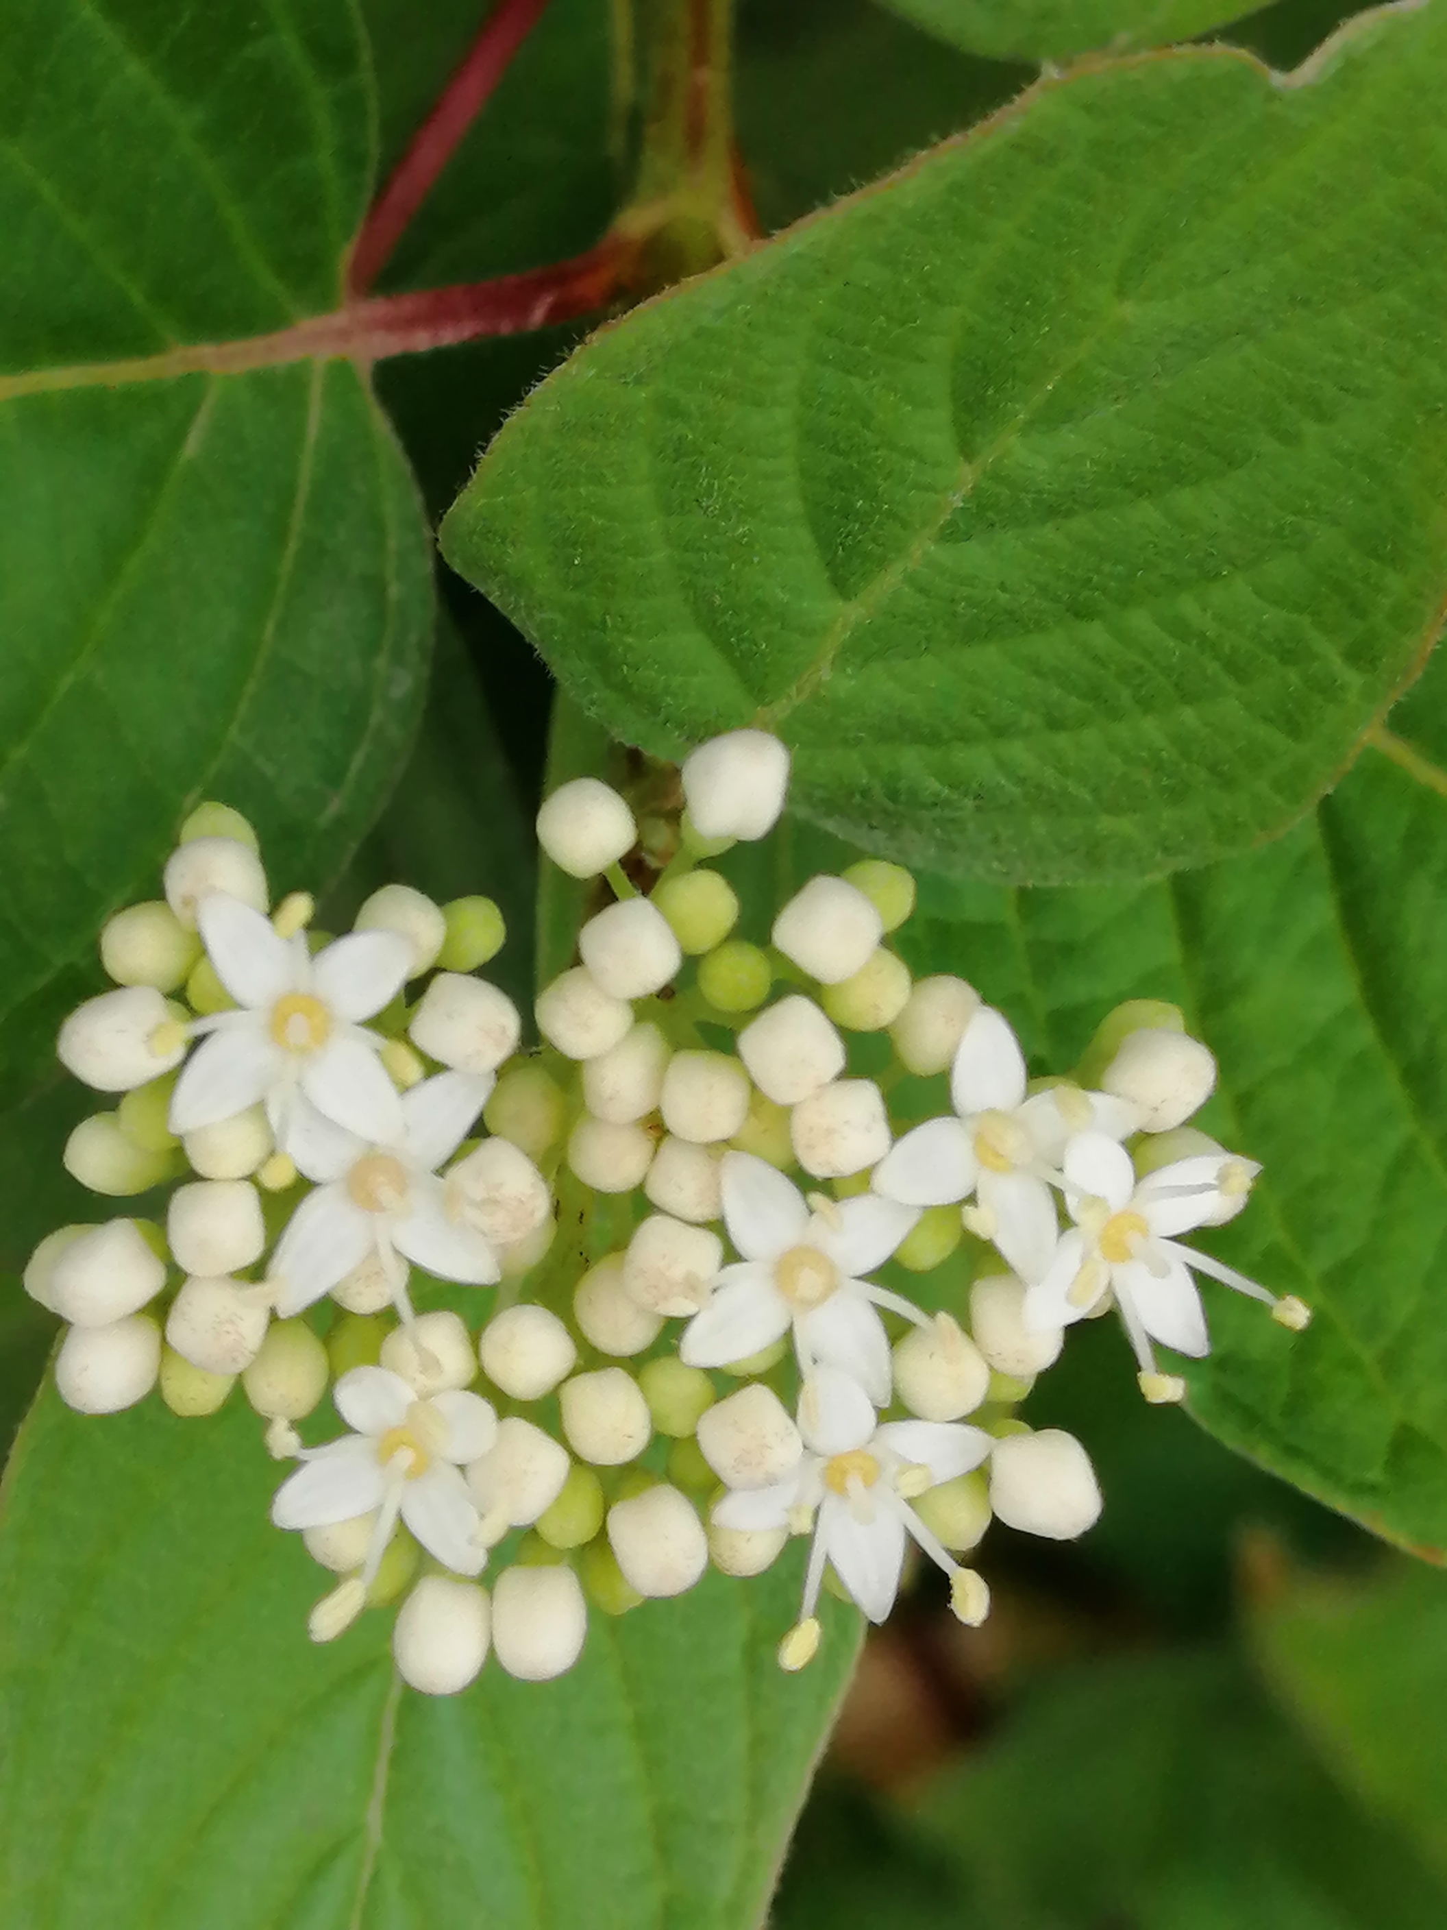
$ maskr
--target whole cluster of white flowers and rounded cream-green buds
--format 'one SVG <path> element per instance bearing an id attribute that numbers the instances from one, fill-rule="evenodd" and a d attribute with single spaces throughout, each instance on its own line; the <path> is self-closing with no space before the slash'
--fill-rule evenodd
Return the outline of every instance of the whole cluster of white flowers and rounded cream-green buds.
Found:
<path id="1" fill-rule="evenodd" d="M 164 899 L 110 919 L 116 988 L 62 1027 L 66 1067 L 116 1094 L 69 1172 L 172 1191 L 164 1224 L 33 1254 L 60 1395 L 104 1415 L 158 1386 L 199 1417 L 239 1380 L 295 1461 L 272 1519 L 336 1577 L 313 1639 L 399 1602 L 421 1691 L 488 1652 L 558 1675 L 588 1604 L 758 1575 L 793 1534 L 787 1669 L 826 1583 L 889 1613 L 911 1542 L 978 1623 L 959 1558 L 992 1519 L 1073 1538 L 1100 1513 L 1084 1448 L 1017 1417 L 1071 1322 L 1113 1307 L 1150 1401 L 1185 1393 L 1156 1343 L 1208 1351 L 1198 1274 L 1306 1322 L 1181 1243 L 1258 1168 L 1187 1125 L 1215 1063 L 1173 1007 L 1119 1007 L 1075 1077 L 1030 1081 L 965 979 L 911 975 L 915 880 L 876 859 L 741 936 L 708 861 L 768 836 L 787 778 L 778 739 L 735 731 L 633 803 L 594 778 L 548 797 L 540 843 L 596 909 L 536 1048 L 478 977 L 496 905 L 388 886 L 328 938 L 307 894 L 272 905 L 222 805 L 183 826 Z M 328 1388 L 345 1432 L 307 1446 Z"/>

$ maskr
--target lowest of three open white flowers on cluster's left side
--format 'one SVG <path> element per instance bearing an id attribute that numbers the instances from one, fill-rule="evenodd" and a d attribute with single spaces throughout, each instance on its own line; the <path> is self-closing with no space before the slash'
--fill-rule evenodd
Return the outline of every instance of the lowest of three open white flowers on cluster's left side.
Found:
<path id="1" fill-rule="evenodd" d="M 478 1575 L 486 1550 L 477 1540 L 478 1513 L 461 1471 L 496 1440 L 488 1401 L 463 1390 L 419 1401 L 384 1366 L 353 1366 L 332 1397 L 353 1432 L 301 1449 L 301 1467 L 272 1498 L 276 1527 L 324 1529 L 376 1509 L 361 1573 L 370 1583 L 401 1515 L 446 1569 Z"/>

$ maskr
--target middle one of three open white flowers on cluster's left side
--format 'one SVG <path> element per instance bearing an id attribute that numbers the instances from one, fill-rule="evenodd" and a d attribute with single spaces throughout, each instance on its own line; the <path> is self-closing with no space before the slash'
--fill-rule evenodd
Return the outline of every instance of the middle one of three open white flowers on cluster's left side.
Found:
<path id="1" fill-rule="evenodd" d="M 450 1206 L 436 1168 L 461 1144 L 488 1085 L 471 1073 L 438 1073 L 405 1092 L 399 1131 L 388 1144 L 336 1135 L 309 1143 L 297 1164 L 324 1181 L 297 1206 L 276 1243 L 270 1278 L 282 1318 L 311 1307 L 372 1254 L 407 1314 L 407 1262 L 469 1287 L 500 1278 L 498 1251 Z"/>

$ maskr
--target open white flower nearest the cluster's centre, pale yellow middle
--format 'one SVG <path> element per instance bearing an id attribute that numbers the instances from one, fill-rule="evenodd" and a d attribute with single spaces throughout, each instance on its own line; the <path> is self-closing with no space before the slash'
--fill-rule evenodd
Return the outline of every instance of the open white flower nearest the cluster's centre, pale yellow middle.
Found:
<path id="1" fill-rule="evenodd" d="M 805 1374 L 818 1363 L 843 1368 L 884 1407 L 889 1337 L 878 1309 L 916 1322 L 924 1314 L 860 1276 L 889 1258 L 918 1214 L 872 1193 L 805 1200 L 752 1152 L 724 1154 L 722 1193 L 724 1224 L 743 1260 L 720 1272 L 708 1305 L 683 1330 L 679 1359 L 725 1366 L 793 1328 Z"/>

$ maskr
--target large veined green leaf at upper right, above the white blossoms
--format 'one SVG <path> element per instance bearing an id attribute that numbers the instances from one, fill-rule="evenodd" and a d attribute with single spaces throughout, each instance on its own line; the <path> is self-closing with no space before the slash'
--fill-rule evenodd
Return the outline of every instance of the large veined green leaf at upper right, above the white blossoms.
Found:
<path id="1" fill-rule="evenodd" d="M 1281 832 L 1447 591 L 1445 46 L 1042 85 L 598 334 L 446 554 L 615 737 L 772 722 L 872 849 L 1073 882 Z"/>

